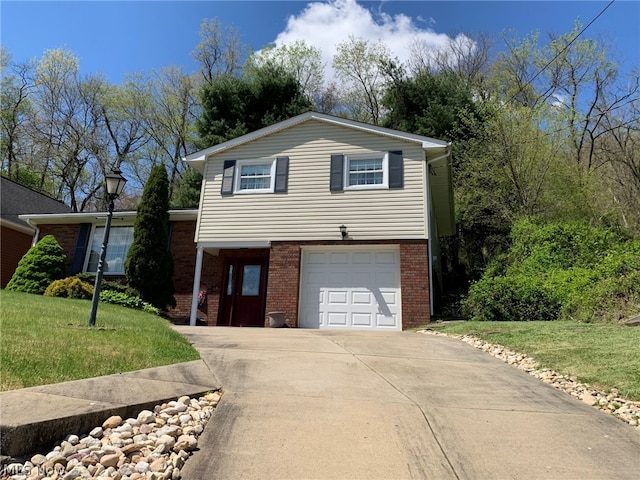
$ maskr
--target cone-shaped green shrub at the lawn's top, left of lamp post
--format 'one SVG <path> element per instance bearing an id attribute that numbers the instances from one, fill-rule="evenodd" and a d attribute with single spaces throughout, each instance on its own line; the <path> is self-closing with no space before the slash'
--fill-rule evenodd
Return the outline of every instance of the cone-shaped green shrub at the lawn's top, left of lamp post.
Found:
<path id="1" fill-rule="evenodd" d="M 49 284 L 66 275 L 66 255 L 53 235 L 43 237 L 20 259 L 7 290 L 42 295 Z"/>

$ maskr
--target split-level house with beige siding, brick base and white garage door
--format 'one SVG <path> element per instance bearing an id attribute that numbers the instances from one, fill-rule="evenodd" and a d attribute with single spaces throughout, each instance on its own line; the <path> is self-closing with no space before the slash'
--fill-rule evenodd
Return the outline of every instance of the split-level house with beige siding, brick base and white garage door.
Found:
<path id="1" fill-rule="evenodd" d="M 198 210 L 170 211 L 177 307 L 208 325 L 393 330 L 428 323 L 438 236 L 455 231 L 447 142 L 309 112 L 185 159 Z M 72 273 L 95 271 L 106 213 L 24 215 Z M 135 212 L 115 212 L 116 278 Z"/>

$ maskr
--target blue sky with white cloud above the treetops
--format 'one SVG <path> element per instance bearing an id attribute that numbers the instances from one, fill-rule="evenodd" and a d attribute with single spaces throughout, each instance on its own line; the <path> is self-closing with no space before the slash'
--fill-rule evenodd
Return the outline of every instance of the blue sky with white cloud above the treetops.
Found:
<path id="1" fill-rule="evenodd" d="M 254 49 L 304 38 L 326 51 L 349 33 L 381 38 L 392 53 L 406 52 L 412 35 L 437 44 L 445 35 L 484 32 L 499 37 L 569 32 L 591 21 L 608 1 L 29 1 L 0 2 L 0 41 L 22 61 L 66 47 L 82 74 L 123 75 L 169 65 L 196 69 L 191 52 L 200 24 L 218 18 Z M 640 64 L 640 2 L 616 0 L 581 38 L 604 39 L 625 70 Z M 332 45 L 333 44 L 333 45 Z"/>

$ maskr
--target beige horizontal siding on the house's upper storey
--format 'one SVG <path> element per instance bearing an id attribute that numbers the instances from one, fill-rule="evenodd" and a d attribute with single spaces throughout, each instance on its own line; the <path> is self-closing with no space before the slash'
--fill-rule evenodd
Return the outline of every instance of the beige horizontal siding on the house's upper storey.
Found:
<path id="1" fill-rule="evenodd" d="M 404 188 L 329 191 L 331 154 L 402 150 Z M 289 157 L 287 193 L 220 194 L 225 160 Z M 198 242 L 426 238 L 424 152 L 417 143 L 311 120 L 210 157 Z"/>

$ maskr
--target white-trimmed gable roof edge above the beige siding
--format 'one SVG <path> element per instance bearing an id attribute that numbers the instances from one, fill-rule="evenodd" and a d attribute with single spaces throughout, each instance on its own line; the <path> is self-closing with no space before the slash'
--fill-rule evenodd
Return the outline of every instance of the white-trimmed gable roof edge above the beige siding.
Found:
<path id="1" fill-rule="evenodd" d="M 334 117 L 333 115 L 327 115 L 325 113 L 306 112 L 296 117 L 289 118 L 288 120 L 284 120 L 282 122 L 269 125 L 268 127 L 261 128 L 260 130 L 256 130 L 255 132 L 250 132 L 240 137 L 234 138 L 232 140 L 228 140 L 226 142 L 219 143 L 218 145 L 214 145 L 212 147 L 206 148 L 204 150 L 191 153 L 186 157 L 184 157 L 183 160 L 188 162 L 192 167 L 196 168 L 197 170 L 202 171 L 204 167 L 204 162 L 206 161 L 208 155 L 213 155 L 216 153 L 223 152 L 225 150 L 229 150 L 230 148 L 234 148 L 234 147 L 243 145 L 245 143 L 252 142 L 254 140 L 257 140 L 258 138 L 266 137 L 267 135 L 271 135 L 273 133 L 286 130 L 295 125 L 300 125 L 301 123 L 308 122 L 309 120 L 317 120 L 317 121 L 329 123 L 332 125 L 339 125 L 346 128 L 352 128 L 354 130 L 373 133 L 375 135 L 382 135 L 382 136 L 400 139 L 408 142 L 418 143 L 425 150 L 426 149 L 442 150 L 447 148 L 450 145 L 449 142 L 445 142 L 443 140 L 437 140 L 435 138 L 424 137 L 422 135 L 415 135 L 413 133 L 401 132 L 399 130 L 392 130 L 390 128 L 379 127 L 377 125 L 370 125 L 368 123 L 356 122 L 355 120 Z"/>

